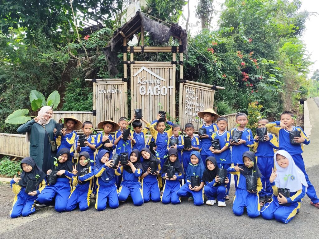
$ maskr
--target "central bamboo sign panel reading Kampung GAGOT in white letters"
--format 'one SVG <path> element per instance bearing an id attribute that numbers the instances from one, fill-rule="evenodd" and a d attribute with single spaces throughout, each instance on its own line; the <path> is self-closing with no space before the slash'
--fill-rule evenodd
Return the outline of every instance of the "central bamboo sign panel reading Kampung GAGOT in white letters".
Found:
<path id="1" fill-rule="evenodd" d="M 175 120 L 175 65 L 148 62 L 130 67 L 131 117 L 134 109 L 142 109 L 143 118 L 152 122 L 161 110 Z"/>

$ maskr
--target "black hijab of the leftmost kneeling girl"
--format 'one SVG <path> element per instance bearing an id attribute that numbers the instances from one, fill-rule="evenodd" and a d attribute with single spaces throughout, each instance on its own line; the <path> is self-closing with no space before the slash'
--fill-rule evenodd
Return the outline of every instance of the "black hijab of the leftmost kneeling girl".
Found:
<path id="1" fill-rule="evenodd" d="M 35 164 L 32 157 L 25 157 L 24 159 L 21 160 L 21 163 L 20 163 L 21 169 L 22 169 L 22 163 L 29 164 L 32 167 L 32 170 L 28 173 L 26 171 L 22 170 L 22 174 L 20 176 L 21 180 L 19 180 L 19 182 L 18 182 L 18 185 L 20 185 L 21 187 L 26 187 L 28 180 L 39 181 L 41 183 L 42 180 L 47 176 L 39 168 L 39 166 Z M 38 178 L 36 178 L 37 175 L 39 175 Z"/>

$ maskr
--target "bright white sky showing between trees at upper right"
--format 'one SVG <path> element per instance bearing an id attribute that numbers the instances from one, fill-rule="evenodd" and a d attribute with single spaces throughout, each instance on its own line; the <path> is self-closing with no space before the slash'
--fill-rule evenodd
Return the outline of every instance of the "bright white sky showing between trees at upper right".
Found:
<path id="1" fill-rule="evenodd" d="M 198 0 L 189 0 L 190 2 L 190 31 L 192 35 L 196 35 L 200 31 L 200 22 L 199 19 L 195 17 L 195 9 Z M 219 19 L 219 13 L 222 8 L 222 4 L 224 3 L 223 0 L 215 0 L 214 7 L 217 11 L 217 14 L 213 17 L 211 26 L 212 30 L 216 30 L 218 28 L 217 21 Z M 308 77 L 312 76 L 312 73 L 315 69 L 319 69 L 319 47 L 318 47 L 318 39 L 319 39 L 319 1 L 317 0 L 302 0 L 302 5 L 299 11 L 307 10 L 309 12 L 316 12 L 317 15 L 310 16 L 309 19 L 306 21 L 306 31 L 303 34 L 302 40 L 306 44 L 306 49 L 308 51 L 307 54 L 310 55 L 310 60 L 314 62 L 312 66 L 309 67 L 309 74 Z M 187 5 L 184 7 L 183 14 L 185 18 L 187 18 L 188 10 Z M 180 24 L 185 26 L 186 21 L 180 18 Z"/>

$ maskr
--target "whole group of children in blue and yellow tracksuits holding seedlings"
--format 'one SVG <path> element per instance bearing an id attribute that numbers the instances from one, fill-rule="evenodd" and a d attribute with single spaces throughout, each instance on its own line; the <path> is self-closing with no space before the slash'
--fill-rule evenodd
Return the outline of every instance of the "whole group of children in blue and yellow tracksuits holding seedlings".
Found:
<path id="1" fill-rule="evenodd" d="M 206 196 L 207 205 L 218 202 L 218 206 L 225 207 L 231 174 L 236 190 L 233 212 L 237 216 L 246 208 L 249 217 L 261 214 L 265 219 L 287 223 L 299 211 L 305 193 L 311 204 L 319 208 L 301 156 L 302 143 L 310 141 L 300 127 L 293 126 L 291 112 L 283 112 L 280 121 L 273 123 L 260 119 L 258 128 L 270 132 L 262 140 L 257 135 L 253 137 L 246 128 L 245 113 L 236 115 L 237 127 L 230 131 L 226 130 L 227 119 L 211 108 L 198 116 L 205 122 L 201 131 L 206 132 L 199 136 L 194 135 L 190 123 L 185 125 L 183 135 L 179 124 L 162 118 L 161 114 L 152 123 L 141 119 L 146 124 L 144 129 L 135 118 L 128 121 L 121 117 L 118 124 L 102 121 L 98 124 L 102 131 L 97 135 L 92 135 L 91 122 L 82 125 L 74 117 L 65 118 L 62 136 L 56 137 L 59 148 L 51 170 L 45 174 L 30 157 L 21 161 L 22 175 L 11 180 L 16 194 L 11 217 L 32 214 L 35 201 L 48 205 L 55 200 L 58 212 L 74 210 L 77 205 L 83 211 L 89 207 L 92 193 L 96 195 L 97 210 L 105 210 L 107 204 L 116 208 L 129 195 L 136 206 L 150 200 L 179 204 L 181 197 L 188 197 L 200 206 Z M 217 124 L 213 123 L 215 119 Z M 131 123 L 133 130 L 128 129 Z M 82 147 L 74 131 L 79 125 L 86 135 Z M 165 130 L 167 125 L 169 129 Z M 145 144 L 148 130 L 152 137 Z M 299 131 L 300 137 L 291 140 L 291 131 Z M 191 141 L 187 147 L 185 136 Z M 74 142 L 79 152 L 76 165 Z M 219 146 L 212 142 L 218 142 Z M 53 182 L 52 177 L 56 177 Z M 37 189 L 26 191 L 28 180 L 34 178 L 38 181 Z"/>

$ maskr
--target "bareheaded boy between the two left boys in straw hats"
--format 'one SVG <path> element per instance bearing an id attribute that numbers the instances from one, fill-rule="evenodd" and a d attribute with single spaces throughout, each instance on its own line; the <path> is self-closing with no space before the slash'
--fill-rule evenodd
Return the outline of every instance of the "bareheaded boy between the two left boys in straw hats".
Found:
<path id="1" fill-rule="evenodd" d="M 90 155 L 90 159 L 93 161 L 90 161 L 91 167 L 93 168 L 94 166 L 94 153 L 95 153 L 95 135 L 92 134 L 93 130 L 93 124 L 90 121 L 85 121 L 82 126 L 83 129 L 83 134 L 86 136 L 86 141 L 84 141 L 85 147 L 80 147 L 80 142 L 79 142 L 79 136 L 75 140 L 75 145 L 77 145 L 76 150 L 78 153 L 82 152 L 88 152 Z M 87 159 L 89 159 L 87 158 Z"/>

